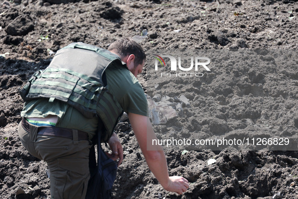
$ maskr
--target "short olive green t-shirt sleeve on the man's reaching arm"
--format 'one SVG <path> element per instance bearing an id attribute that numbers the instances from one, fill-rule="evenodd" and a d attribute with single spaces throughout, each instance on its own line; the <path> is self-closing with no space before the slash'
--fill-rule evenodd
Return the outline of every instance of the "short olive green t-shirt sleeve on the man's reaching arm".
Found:
<path id="1" fill-rule="evenodd" d="M 123 97 L 124 111 L 147 116 L 147 98 L 140 83 L 135 83 Z"/>

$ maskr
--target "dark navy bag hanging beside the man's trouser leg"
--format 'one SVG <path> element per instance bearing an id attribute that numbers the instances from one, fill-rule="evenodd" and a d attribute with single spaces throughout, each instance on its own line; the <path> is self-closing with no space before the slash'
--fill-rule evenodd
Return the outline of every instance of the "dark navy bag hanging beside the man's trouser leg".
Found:
<path id="1" fill-rule="evenodd" d="M 95 159 L 94 144 L 90 148 L 89 169 L 90 179 L 88 182 L 86 199 L 109 199 L 112 198 L 112 186 L 116 179 L 117 165 L 108 158 L 101 148 L 100 135 L 97 135 L 97 165 Z"/>

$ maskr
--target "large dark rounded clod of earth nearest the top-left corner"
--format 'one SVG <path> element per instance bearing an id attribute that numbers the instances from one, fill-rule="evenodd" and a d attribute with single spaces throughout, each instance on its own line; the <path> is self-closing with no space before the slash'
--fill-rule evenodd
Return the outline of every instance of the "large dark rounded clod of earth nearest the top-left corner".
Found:
<path id="1" fill-rule="evenodd" d="M 13 36 L 24 36 L 34 29 L 34 24 L 29 16 L 19 16 L 6 28 L 6 32 Z"/>

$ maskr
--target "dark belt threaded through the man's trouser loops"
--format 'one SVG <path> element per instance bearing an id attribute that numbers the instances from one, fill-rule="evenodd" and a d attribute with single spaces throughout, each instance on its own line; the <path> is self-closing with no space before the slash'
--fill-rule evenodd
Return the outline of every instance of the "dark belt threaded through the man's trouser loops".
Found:
<path id="1" fill-rule="evenodd" d="M 26 131 L 30 131 L 30 123 L 25 118 L 22 119 L 21 125 Z M 80 130 L 77 131 L 79 140 L 89 139 L 88 133 Z M 73 139 L 73 129 L 60 128 L 55 126 L 39 126 L 37 135 L 51 135 Z"/>

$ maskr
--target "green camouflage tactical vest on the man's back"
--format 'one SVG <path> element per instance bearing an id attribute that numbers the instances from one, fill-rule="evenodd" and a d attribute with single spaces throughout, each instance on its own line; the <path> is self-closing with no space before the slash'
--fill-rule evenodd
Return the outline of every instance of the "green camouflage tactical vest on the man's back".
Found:
<path id="1" fill-rule="evenodd" d="M 105 49 L 82 42 L 71 43 L 57 51 L 45 70 L 33 74 L 20 94 L 24 101 L 43 97 L 49 102 L 59 100 L 87 118 L 99 117 L 105 127 L 102 140 L 107 141 L 123 114 L 103 81 L 105 69 L 113 65 L 124 63 Z"/>

